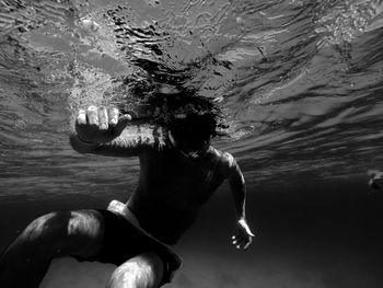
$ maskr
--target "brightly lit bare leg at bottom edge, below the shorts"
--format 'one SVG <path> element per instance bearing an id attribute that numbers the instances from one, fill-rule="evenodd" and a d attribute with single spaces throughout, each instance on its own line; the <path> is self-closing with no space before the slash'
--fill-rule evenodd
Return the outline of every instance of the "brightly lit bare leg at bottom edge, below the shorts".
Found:
<path id="1" fill-rule="evenodd" d="M 107 288 L 158 288 L 162 283 L 164 265 L 155 253 L 143 253 L 130 258 L 112 274 Z"/>

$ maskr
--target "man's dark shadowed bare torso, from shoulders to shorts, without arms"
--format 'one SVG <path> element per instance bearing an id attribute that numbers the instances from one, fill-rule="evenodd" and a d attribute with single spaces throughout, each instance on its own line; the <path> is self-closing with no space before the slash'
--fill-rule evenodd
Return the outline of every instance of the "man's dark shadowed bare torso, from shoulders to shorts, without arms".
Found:
<path id="1" fill-rule="evenodd" d="M 230 157 L 212 147 L 196 160 L 171 147 L 147 149 L 139 155 L 139 185 L 128 206 L 148 232 L 175 243 L 227 178 Z"/>

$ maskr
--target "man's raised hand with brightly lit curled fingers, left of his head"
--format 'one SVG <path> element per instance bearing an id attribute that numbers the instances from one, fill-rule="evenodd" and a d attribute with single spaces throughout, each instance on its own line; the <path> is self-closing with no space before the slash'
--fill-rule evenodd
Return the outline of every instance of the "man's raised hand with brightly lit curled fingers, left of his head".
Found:
<path id="1" fill-rule="evenodd" d="M 89 143 L 105 143 L 118 137 L 131 120 L 129 114 L 119 115 L 117 108 L 90 106 L 80 110 L 76 119 L 78 138 Z"/>

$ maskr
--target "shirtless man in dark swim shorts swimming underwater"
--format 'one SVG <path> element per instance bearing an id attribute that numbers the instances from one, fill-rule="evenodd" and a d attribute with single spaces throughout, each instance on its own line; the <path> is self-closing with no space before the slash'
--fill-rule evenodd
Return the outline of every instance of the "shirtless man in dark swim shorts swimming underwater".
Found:
<path id="1" fill-rule="evenodd" d="M 80 153 L 139 157 L 139 184 L 127 204 L 112 201 L 106 210 L 51 212 L 34 220 L 0 260 L 1 288 L 38 287 L 51 260 L 67 255 L 116 264 L 108 288 L 160 287 L 181 265 L 171 245 L 225 178 L 237 217 L 232 243 L 237 249 L 251 244 L 242 172 L 231 154 L 210 146 L 216 120 L 175 115 L 161 138 L 134 136 L 130 119 L 117 108 L 91 106 L 79 111 L 70 136 Z"/>

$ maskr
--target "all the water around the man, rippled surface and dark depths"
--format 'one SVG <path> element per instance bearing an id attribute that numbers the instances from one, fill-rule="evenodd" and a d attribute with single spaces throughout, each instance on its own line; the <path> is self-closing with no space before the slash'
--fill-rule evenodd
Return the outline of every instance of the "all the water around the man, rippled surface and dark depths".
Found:
<path id="1" fill-rule="evenodd" d="M 159 82 L 216 99 L 245 173 L 247 253 L 222 187 L 181 242 L 170 287 L 382 287 L 381 1 L 0 1 L 0 249 L 34 217 L 104 207 L 138 161 L 80 155 L 71 113 Z M 129 94 L 129 93 L 130 94 Z M 126 99 L 126 95 L 128 97 Z M 65 268 L 61 266 L 61 268 Z M 63 285 L 65 287 L 65 285 Z M 70 286 L 67 286 L 70 287 Z"/>

